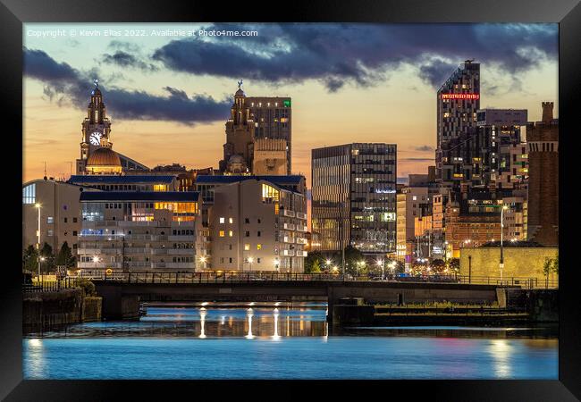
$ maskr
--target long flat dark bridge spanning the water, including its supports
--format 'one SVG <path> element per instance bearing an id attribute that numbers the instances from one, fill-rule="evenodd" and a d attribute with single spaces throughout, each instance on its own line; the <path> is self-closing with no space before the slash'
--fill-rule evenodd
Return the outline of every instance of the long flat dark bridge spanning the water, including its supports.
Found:
<path id="1" fill-rule="evenodd" d="M 135 317 L 141 302 L 326 300 L 328 320 L 333 321 L 333 306 L 347 297 L 363 297 L 371 304 L 443 300 L 501 304 L 505 289 L 532 286 L 528 279 L 514 278 L 470 278 L 468 283 L 459 276 L 370 280 L 294 272 L 132 272 L 93 277 L 92 281 L 103 297 L 103 316 L 110 319 Z"/>

